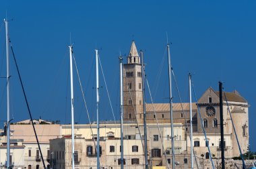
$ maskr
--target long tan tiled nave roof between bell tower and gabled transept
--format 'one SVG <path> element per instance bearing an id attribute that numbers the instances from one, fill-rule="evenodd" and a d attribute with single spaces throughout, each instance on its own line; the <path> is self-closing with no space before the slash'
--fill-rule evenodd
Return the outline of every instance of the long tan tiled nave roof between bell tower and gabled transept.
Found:
<path id="1" fill-rule="evenodd" d="M 154 109 L 156 112 L 159 111 L 170 111 L 170 104 L 169 103 L 154 103 Z M 146 112 L 153 112 L 153 105 L 146 104 Z M 189 111 L 189 103 L 183 103 L 183 109 L 185 111 Z M 172 111 L 182 111 L 181 103 L 173 103 L 172 104 Z M 192 110 L 197 111 L 197 105 L 192 103 Z"/>

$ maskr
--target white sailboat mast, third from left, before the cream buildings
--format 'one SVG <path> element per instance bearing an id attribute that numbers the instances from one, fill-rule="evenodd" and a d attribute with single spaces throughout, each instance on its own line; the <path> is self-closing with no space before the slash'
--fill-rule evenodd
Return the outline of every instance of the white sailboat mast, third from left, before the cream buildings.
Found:
<path id="1" fill-rule="evenodd" d="M 98 50 L 95 50 L 96 53 L 96 109 L 97 109 L 97 169 L 100 168 L 100 123 L 99 123 L 99 115 L 98 115 L 98 103 L 100 101 L 98 94 Z"/>

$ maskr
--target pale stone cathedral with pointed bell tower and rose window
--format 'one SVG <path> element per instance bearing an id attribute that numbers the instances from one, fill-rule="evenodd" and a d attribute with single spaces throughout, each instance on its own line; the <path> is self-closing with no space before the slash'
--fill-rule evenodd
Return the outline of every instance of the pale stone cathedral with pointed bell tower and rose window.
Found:
<path id="1" fill-rule="evenodd" d="M 133 121 L 143 124 L 143 91 L 141 76 L 141 60 L 135 42 L 131 44 L 127 63 L 123 66 L 123 97 L 124 97 L 124 115 L 125 121 Z M 247 152 L 249 146 L 249 104 L 237 91 L 225 93 L 226 99 L 223 99 L 224 110 L 224 150 L 225 158 L 240 156 L 236 134 L 241 152 Z M 210 146 L 213 158 L 221 158 L 220 152 L 220 93 L 209 87 L 201 96 L 198 103 L 192 104 L 192 126 L 190 126 L 189 103 L 173 103 L 173 121 L 181 123 L 184 129 L 184 138 L 187 142 L 187 154 L 190 154 L 190 127 L 193 127 L 193 146 L 195 154 L 201 158 L 209 159 L 206 142 Z M 226 102 L 227 100 L 227 102 Z M 228 103 L 228 104 L 227 104 Z M 229 107 L 229 110 L 228 110 Z M 155 112 L 154 112 L 155 111 Z M 230 117 L 230 113 L 232 120 Z M 201 118 L 199 117 L 201 113 Z M 170 124 L 170 105 L 169 103 L 146 104 L 147 124 L 156 123 Z M 232 121 L 234 128 L 232 127 Z M 207 139 L 203 135 L 205 129 Z"/>

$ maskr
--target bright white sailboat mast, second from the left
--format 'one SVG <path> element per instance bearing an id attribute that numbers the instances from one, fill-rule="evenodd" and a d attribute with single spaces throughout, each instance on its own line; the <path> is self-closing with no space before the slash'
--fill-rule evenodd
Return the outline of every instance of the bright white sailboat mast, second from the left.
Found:
<path id="1" fill-rule="evenodd" d="M 71 89 L 71 137 L 72 137 L 72 169 L 75 168 L 75 136 L 74 136 L 74 96 L 73 96 L 73 58 L 72 58 L 72 51 L 73 46 L 69 46 L 69 62 L 70 62 L 70 89 Z"/>

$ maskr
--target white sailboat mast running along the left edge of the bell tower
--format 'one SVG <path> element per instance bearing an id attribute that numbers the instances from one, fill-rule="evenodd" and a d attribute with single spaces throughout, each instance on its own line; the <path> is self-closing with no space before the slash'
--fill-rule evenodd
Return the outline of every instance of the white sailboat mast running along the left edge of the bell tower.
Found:
<path id="1" fill-rule="evenodd" d="M 120 61 L 120 111 L 121 111 L 121 169 L 123 169 L 123 58 Z"/>

